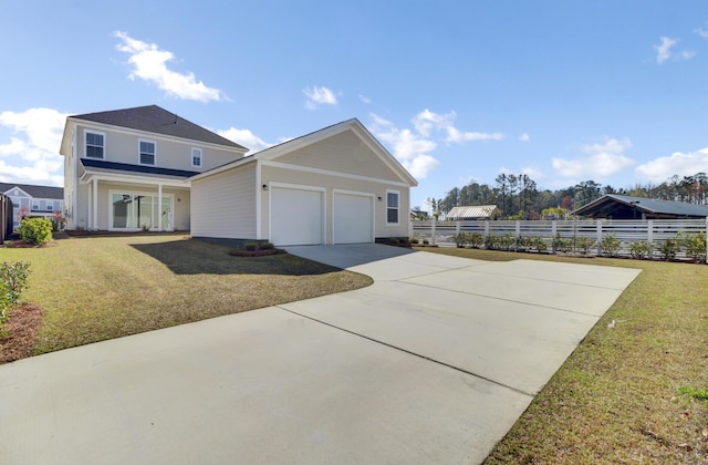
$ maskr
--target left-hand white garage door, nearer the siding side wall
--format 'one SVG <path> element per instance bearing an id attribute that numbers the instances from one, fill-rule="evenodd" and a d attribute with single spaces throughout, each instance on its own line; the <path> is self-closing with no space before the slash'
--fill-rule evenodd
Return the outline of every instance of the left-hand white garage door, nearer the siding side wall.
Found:
<path id="1" fill-rule="evenodd" d="M 270 192 L 270 241 L 277 246 L 323 244 L 321 190 L 272 187 Z"/>

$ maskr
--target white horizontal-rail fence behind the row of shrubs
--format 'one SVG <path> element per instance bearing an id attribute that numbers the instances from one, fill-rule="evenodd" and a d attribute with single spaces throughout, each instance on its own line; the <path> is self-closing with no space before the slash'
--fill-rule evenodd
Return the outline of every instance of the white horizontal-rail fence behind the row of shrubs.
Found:
<path id="1" fill-rule="evenodd" d="M 592 252 L 602 255 L 602 240 L 613 235 L 620 240 L 618 256 L 629 256 L 632 245 L 647 242 L 648 258 L 660 258 L 660 247 L 667 239 L 695 237 L 702 232 L 708 238 L 708 218 L 705 219 L 597 219 L 597 220 L 539 220 L 539 221 L 410 221 L 410 237 L 428 240 L 431 245 L 455 246 L 459 234 L 476 234 L 487 239 L 492 237 L 513 238 L 512 249 L 519 250 L 523 238 L 539 238 L 553 248 L 554 238 L 575 244 L 581 238 L 592 244 Z M 535 239 L 535 240 L 539 240 Z M 592 239 L 592 240 L 589 240 Z M 706 239 L 708 242 L 708 239 Z M 707 244 L 708 246 L 708 244 Z M 589 250 L 590 251 L 590 250 Z M 688 258 L 680 248 L 676 258 Z M 707 261 L 708 262 L 708 261 Z"/>

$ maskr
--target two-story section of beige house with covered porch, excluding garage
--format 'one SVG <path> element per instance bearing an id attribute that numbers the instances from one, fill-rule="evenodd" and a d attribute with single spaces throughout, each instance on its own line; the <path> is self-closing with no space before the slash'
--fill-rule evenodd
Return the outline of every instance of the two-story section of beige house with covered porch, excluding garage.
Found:
<path id="1" fill-rule="evenodd" d="M 187 230 L 187 179 L 246 152 L 156 105 L 69 116 L 60 149 L 66 228 Z"/>

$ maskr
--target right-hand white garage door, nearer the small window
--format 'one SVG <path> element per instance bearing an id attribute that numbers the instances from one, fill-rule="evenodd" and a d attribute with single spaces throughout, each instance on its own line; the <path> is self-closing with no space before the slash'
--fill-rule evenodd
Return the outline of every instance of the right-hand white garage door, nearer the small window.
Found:
<path id="1" fill-rule="evenodd" d="M 374 197 L 334 194 L 334 244 L 374 241 Z"/>

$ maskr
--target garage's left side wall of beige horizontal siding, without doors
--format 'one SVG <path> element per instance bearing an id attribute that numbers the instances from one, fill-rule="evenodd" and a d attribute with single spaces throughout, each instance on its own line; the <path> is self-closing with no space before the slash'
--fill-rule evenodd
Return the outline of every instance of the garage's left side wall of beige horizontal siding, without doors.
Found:
<path id="1" fill-rule="evenodd" d="M 256 239 L 256 164 L 191 183 L 191 235 Z"/>

